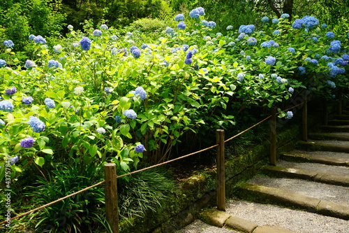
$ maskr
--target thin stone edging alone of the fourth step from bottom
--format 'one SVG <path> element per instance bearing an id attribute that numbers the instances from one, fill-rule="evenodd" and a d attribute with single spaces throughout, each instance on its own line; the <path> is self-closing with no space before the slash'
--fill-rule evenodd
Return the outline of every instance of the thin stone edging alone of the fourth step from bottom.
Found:
<path id="1" fill-rule="evenodd" d="M 281 157 L 285 160 L 299 161 L 299 162 L 317 162 L 320 164 L 347 166 L 349 167 L 349 159 L 341 159 L 334 157 L 318 157 L 301 153 L 282 153 Z"/>

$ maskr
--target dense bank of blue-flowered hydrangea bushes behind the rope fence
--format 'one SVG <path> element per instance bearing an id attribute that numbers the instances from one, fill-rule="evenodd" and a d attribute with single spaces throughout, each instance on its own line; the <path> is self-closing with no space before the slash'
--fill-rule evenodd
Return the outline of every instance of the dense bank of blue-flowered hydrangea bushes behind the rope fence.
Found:
<path id="1" fill-rule="evenodd" d="M 66 38 L 52 47 L 43 36 L 28 35 L 34 54 L 25 63 L 11 38 L 3 41 L 1 188 L 29 185 L 29 174 L 40 176 L 34 181 L 39 190 L 49 187 L 45 192 L 74 187 L 74 179 L 63 184 L 65 174 L 79 176 L 77 187 L 85 188 L 98 181 L 88 179 L 88 168 L 114 162 L 126 174 L 140 162 L 169 160 L 188 134 L 234 129 L 237 115 L 251 106 L 281 111 L 304 92 L 331 99 L 336 87 L 348 86 L 349 31 L 329 29 L 313 16 L 263 17 L 260 29 L 249 24 L 218 32 L 205 9 L 195 8 L 174 22 L 177 27 L 152 33 L 89 23 L 83 33 L 68 25 Z M 292 111 L 280 117 L 290 119 Z M 100 195 L 97 189 L 91 203 L 103 205 Z M 89 203 L 73 203 L 67 232 L 91 223 L 75 208 Z M 47 223 L 45 214 L 36 218 L 36 227 L 61 227 L 58 220 Z"/>

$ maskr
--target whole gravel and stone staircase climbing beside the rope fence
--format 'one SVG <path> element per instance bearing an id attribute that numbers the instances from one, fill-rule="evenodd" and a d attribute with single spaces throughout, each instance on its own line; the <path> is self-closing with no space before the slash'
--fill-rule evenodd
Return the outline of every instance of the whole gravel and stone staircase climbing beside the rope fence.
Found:
<path id="1" fill-rule="evenodd" d="M 349 232 L 349 111 L 335 119 L 179 232 Z"/>

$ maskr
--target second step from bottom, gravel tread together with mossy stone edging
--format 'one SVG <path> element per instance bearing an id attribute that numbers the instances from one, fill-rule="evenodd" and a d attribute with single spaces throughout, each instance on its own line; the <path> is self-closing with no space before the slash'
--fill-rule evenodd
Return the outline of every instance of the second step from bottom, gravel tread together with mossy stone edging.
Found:
<path id="1" fill-rule="evenodd" d="M 349 220 L 348 194 L 349 188 L 337 185 L 255 176 L 249 183 L 239 185 L 235 195 L 253 202 L 290 206 Z"/>

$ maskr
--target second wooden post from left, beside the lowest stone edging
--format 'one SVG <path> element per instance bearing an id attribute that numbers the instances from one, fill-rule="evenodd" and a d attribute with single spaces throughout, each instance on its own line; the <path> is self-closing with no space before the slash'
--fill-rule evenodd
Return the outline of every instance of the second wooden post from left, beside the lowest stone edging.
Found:
<path id="1" fill-rule="evenodd" d="M 224 130 L 217 129 L 217 209 L 225 211 Z"/>

